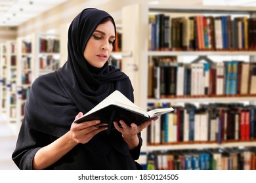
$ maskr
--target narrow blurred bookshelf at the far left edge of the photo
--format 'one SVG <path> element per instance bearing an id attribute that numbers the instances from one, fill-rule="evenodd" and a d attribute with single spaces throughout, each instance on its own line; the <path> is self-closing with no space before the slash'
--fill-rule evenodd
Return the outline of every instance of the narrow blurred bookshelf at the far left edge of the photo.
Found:
<path id="1" fill-rule="evenodd" d="M 1 115 L 7 113 L 7 47 L 5 42 L 0 43 L 0 103 Z"/>

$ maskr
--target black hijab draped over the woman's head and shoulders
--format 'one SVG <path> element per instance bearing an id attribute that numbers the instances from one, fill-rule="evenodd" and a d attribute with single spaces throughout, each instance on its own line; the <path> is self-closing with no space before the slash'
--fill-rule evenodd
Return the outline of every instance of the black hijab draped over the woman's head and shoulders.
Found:
<path id="1" fill-rule="evenodd" d="M 25 110 L 25 120 L 31 127 L 60 137 L 70 129 L 79 111 L 85 114 L 114 90 L 133 101 L 127 75 L 108 62 L 102 68 L 93 67 L 83 56 L 93 31 L 107 17 L 112 18 L 103 10 L 86 8 L 74 18 L 68 30 L 68 61 L 32 84 Z"/>

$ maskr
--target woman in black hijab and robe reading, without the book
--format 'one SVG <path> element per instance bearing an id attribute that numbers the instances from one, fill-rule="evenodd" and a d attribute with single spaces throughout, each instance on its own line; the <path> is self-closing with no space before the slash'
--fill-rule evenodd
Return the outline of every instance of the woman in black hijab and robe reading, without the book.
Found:
<path id="1" fill-rule="evenodd" d="M 140 169 L 140 131 L 153 122 L 121 127 L 110 135 L 98 120 L 74 119 L 95 107 L 114 90 L 133 101 L 131 81 L 108 65 L 116 25 L 107 12 L 86 8 L 68 30 L 68 61 L 40 76 L 26 102 L 12 159 L 20 169 Z"/>

